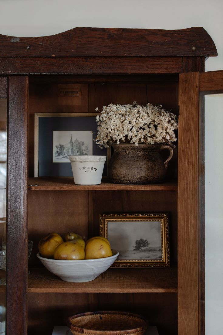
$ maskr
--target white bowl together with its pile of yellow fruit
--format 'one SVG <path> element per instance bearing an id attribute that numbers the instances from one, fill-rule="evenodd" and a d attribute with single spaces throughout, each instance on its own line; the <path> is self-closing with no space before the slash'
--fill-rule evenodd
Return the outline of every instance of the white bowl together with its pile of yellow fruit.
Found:
<path id="1" fill-rule="evenodd" d="M 95 236 L 85 243 L 80 235 L 69 232 L 65 242 L 57 233 L 44 236 L 36 256 L 62 280 L 78 283 L 94 280 L 115 262 L 119 253 L 104 237 Z"/>

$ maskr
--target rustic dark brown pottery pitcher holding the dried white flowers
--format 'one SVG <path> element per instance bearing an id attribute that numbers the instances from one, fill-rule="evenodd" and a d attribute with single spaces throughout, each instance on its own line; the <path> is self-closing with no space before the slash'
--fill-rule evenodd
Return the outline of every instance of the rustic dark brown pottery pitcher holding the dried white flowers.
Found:
<path id="1" fill-rule="evenodd" d="M 168 161 L 173 156 L 170 145 L 113 144 L 108 176 L 117 184 L 154 184 L 164 181 Z M 163 161 L 160 151 L 168 149 L 169 157 Z"/>

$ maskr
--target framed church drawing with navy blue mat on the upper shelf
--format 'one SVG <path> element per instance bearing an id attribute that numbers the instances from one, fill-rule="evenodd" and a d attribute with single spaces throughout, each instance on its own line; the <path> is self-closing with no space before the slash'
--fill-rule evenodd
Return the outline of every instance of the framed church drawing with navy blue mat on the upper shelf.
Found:
<path id="1" fill-rule="evenodd" d="M 106 155 L 94 142 L 99 113 L 36 113 L 34 177 L 73 177 L 70 155 Z M 103 175 L 107 176 L 107 159 Z"/>

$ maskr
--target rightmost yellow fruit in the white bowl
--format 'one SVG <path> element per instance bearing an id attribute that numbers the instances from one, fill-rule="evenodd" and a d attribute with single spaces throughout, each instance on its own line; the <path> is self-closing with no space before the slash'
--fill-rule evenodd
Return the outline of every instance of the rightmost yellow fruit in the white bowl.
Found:
<path id="1" fill-rule="evenodd" d="M 85 259 L 104 258 L 112 256 L 111 247 L 103 239 L 93 239 L 86 244 Z"/>

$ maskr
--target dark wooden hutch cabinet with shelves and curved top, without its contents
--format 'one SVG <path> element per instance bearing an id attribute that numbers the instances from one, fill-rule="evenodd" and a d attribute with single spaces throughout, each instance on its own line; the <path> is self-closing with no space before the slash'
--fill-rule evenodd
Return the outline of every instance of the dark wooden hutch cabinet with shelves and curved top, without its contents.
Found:
<path id="1" fill-rule="evenodd" d="M 0 35 L 0 97 L 8 102 L 7 335 L 50 335 L 54 325 L 65 325 L 72 314 L 106 309 L 142 314 L 160 335 L 204 335 L 199 92 L 202 98 L 204 92 L 223 91 L 221 71 L 204 73 L 209 56 L 217 51 L 200 27 L 74 28 L 38 38 Z M 79 85 L 81 99 L 58 96 L 60 84 Z M 162 104 L 178 117 L 166 182 L 119 185 L 102 180 L 81 186 L 73 178 L 34 178 L 35 113 L 90 114 L 109 103 L 133 101 Z M 36 257 L 40 238 L 49 232 L 75 230 L 90 238 L 99 234 L 99 214 L 153 212 L 169 214 L 169 268 L 110 268 L 92 282 L 68 283 Z M 29 275 L 28 239 L 33 241 Z"/>

